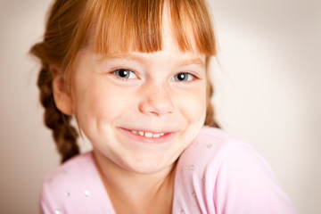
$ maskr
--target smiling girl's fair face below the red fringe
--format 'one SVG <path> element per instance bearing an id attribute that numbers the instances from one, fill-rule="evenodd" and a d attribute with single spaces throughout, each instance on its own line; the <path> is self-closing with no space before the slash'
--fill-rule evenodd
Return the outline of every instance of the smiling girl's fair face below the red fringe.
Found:
<path id="1" fill-rule="evenodd" d="M 170 35 L 155 53 L 76 57 L 72 111 L 95 152 L 122 169 L 170 167 L 198 134 L 206 112 L 206 57 L 179 51 Z"/>

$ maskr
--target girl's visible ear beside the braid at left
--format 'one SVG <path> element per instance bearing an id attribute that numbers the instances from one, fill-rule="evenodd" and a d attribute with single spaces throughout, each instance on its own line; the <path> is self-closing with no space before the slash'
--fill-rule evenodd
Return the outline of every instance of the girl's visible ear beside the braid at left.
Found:
<path id="1" fill-rule="evenodd" d="M 56 107 L 62 113 L 72 115 L 74 111 L 64 72 L 55 66 L 50 66 L 49 70 L 53 75 L 53 99 Z"/>

